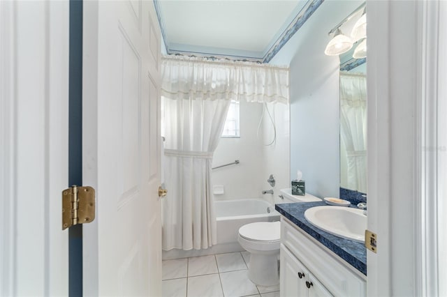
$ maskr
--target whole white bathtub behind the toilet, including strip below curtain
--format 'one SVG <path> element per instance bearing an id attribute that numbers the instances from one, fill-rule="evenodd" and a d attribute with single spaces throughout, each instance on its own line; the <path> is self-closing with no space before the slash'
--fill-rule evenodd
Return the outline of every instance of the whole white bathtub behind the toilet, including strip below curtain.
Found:
<path id="1" fill-rule="evenodd" d="M 237 242 L 240 227 L 251 222 L 279 220 L 279 213 L 274 210 L 274 206 L 263 199 L 237 199 L 214 203 L 217 217 L 217 245 L 205 250 L 163 250 L 163 260 L 243 251 L 244 248 Z"/>

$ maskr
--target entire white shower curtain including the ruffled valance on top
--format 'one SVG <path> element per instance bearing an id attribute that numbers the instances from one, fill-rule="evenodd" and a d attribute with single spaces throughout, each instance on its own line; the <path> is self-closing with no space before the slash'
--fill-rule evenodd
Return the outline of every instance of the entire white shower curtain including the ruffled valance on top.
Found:
<path id="1" fill-rule="evenodd" d="M 165 183 L 162 248 L 217 243 L 212 155 L 230 100 L 288 102 L 288 68 L 170 56 L 161 63 Z"/>

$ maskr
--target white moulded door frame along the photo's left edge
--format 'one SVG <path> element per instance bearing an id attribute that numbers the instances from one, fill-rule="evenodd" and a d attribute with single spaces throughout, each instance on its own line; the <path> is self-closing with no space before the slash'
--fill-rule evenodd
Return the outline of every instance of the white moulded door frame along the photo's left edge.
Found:
<path id="1" fill-rule="evenodd" d="M 67 296 L 68 2 L 0 1 L 0 296 Z"/>

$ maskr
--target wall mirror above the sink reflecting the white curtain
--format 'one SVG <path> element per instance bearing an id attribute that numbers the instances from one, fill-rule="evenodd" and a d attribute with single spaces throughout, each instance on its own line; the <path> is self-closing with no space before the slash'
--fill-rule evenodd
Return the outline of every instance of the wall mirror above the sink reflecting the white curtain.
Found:
<path id="1" fill-rule="evenodd" d="M 340 56 L 340 187 L 367 193 L 366 58 L 352 55 Z"/>

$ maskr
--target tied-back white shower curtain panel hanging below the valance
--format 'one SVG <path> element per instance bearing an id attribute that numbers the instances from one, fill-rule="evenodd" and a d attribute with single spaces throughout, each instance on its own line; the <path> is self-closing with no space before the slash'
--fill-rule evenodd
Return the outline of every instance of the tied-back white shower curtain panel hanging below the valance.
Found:
<path id="1" fill-rule="evenodd" d="M 212 153 L 230 100 L 163 98 L 165 181 L 163 250 L 199 250 L 217 241 L 211 192 Z"/>

